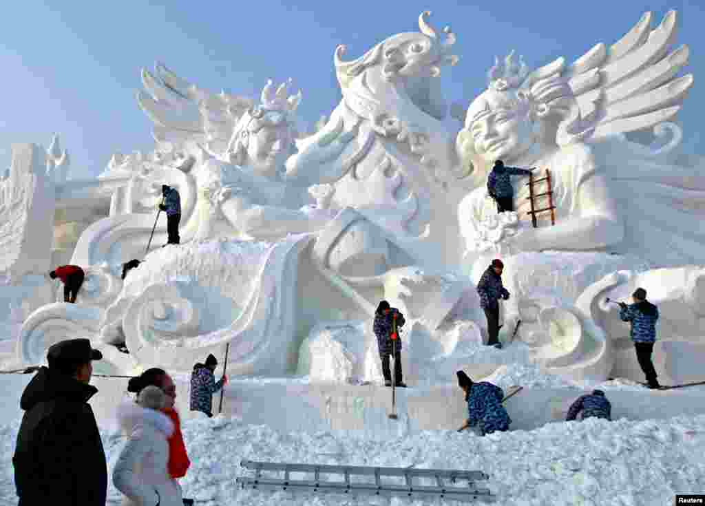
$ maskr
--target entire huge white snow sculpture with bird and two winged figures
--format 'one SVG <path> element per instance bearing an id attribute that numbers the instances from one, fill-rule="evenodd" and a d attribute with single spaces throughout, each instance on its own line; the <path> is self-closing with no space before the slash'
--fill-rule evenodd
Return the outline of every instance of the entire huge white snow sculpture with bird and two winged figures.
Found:
<path id="1" fill-rule="evenodd" d="M 288 82 L 269 82 L 253 100 L 206 92 L 161 64 L 143 70 L 137 101 L 156 147 L 114 156 L 97 183 L 112 189 L 110 216 L 73 252 L 72 263 L 89 271 L 80 306 L 92 312 L 81 322 L 61 303 L 35 311 L 23 360 L 79 324 L 102 345 L 127 344 L 114 368 L 187 371 L 231 343 L 235 374 L 298 366 L 312 380 L 377 381 L 369 323 L 385 298 L 407 315 L 403 360 L 416 381 L 511 360 L 576 379 L 626 370 L 627 326 L 617 330 L 599 312 L 599 280 L 624 270 L 673 276 L 649 269 L 705 254 L 705 164 L 678 165 L 682 132 L 668 123 L 692 87 L 692 75 L 677 77 L 687 47 L 670 49 L 675 13 L 654 30 L 647 13 L 620 41 L 570 66 L 559 58 L 529 72 L 512 55 L 498 61 L 459 133 L 443 123 L 436 79 L 458 61 L 455 35 L 428 16 L 419 16 L 419 32 L 352 61 L 336 49 L 343 99 L 312 135 L 296 125 L 301 94 L 290 95 Z M 652 131 L 658 142 L 648 147 L 632 137 Z M 497 158 L 551 170 L 555 226 L 546 215 L 532 228 L 522 179 L 517 213 L 497 215 L 485 195 Z M 121 264 L 144 255 L 163 183 L 182 197 L 183 245 L 159 249 L 160 216 L 157 251 L 123 283 Z M 517 338 L 527 345 L 503 352 L 482 347 L 474 286 L 498 255 L 513 293 L 501 338 L 510 340 L 521 318 Z M 671 295 L 666 306 L 678 300 Z M 704 324 L 689 321 L 678 332 L 697 347 Z"/>

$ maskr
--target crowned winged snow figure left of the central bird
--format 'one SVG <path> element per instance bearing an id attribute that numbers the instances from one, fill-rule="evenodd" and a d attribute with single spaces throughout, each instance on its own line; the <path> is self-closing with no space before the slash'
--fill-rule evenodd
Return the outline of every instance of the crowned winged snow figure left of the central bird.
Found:
<path id="1" fill-rule="evenodd" d="M 275 91 L 270 80 L 262 90 L 260 104 L 241 100 L 233 107 L 234 99 L 228 100 L 225 94 L 209 95 L 204 101 L 194 95 L 194 87 L 163 66 L 157 66 L 157 72 L 163 83 L 155 78 L 144 80 L 154 97 L 172 90 L 191 101 L 182 99 L 170 108 L 168 101 L 141 93 L 137 97 L 140 106 L 157 128 L 162 125 L 161 133 L 166 136 L 178 135 L 178 129 L 183 128 L 173 119 L 175 112 L 183 117 L 188 108 L 196 109 L 199 121 L 190 128 L 199 135 L 188 142 L 203 137 L 203 154 L 210 155 L 200 156 L 192 171 L 199 192 L 196 219 L 200 226 L 195 238 L 212 237 L 219 216 L 245 238 L 276 239 L 309 230 L 313 221 L 298 209 L 307 198 L 305 188 L 299 188 L 296 195 L 296 190 L 288 188 L 291 183 L 281 181 L 284 162 L 295 151 L 294 113 L 301 92 L 288 97 L 289 82 Z M 250 107 L 243 110 L 245 104 Z"/>

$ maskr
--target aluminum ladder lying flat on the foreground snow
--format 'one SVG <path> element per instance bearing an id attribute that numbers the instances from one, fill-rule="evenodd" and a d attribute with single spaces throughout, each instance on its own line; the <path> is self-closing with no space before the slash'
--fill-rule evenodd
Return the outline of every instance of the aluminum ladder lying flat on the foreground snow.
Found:
<path id="1" fill-rule="evenodd" d="M 487 488 L 477 488 L 474 481 L 489 478 L 482 471 L 455 471 L 446 469 L 409 469 L 404 467 L 364 467 L 364 466 L 329 466 L 319 464 L 283 464 L 279 462 L 253 462 L 243 460 L 242 467 L 255 471 L 255 476 L 245 476 L 236 479 L 242 488 L 254 490 L 291 490 L 314 493 L 339 493 L 349 495 L 398 495 L 406 498 L 447 498 L 457 501 L 481 500 L 494 501 L 496 496 L 491 495 Z M 283 472 L 283 479 L 262 476 L 262 471 Z M 291 473 L 313 474 L 312 480 L 290 479 Z M 338 474 L 341 479 L 337 481 L 321 481 L 324 474 Z M 374 482 L 354 483 L 352 476 L 366 476 L 374 478 Z M 383 477 L 403 478 L 404 485 L 382 483 Z M 432 479 L 435 486 L 416 485 L 413 479 Z M 443 480 L 455 483 L 458 480 L 467 481 L 466 487 L 446 486 Z"/>

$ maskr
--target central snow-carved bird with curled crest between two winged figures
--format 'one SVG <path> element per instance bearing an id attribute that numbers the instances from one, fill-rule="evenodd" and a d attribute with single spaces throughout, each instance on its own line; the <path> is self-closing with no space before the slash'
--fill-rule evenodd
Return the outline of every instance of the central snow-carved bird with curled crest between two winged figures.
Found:
<path id="1" fill-rule="evenodd" d="M 344 46 L 336 49 L 343 100 L 298 142 L 286 174 L 332 184 L 332 209 L 357 209 L 418 264 L 440 268 L 459 263 L 456 209 L 472 187 L 455 178 L 454 134 L 436 79 L 458 62 L 455 34 L 437 32 L 428 16 L 419 16 L 420 33 L 389 37 L 353 61 L 341 59 Z"/>

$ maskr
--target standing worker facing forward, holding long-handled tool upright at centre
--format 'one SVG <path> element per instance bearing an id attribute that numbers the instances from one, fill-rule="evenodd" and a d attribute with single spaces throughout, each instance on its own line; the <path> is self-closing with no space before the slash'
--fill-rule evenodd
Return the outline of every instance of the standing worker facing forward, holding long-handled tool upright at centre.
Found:
<path id="1" fill-rule="evenodd" d="M 394 384 L 395 386 L 406 388 L 406 383 L 402 381 L 401 339 L 399 338 L 399 331 L 404 326 L 404 323 L 404 315 L 401 314 L 399 309 L 391 307 L 386 300 L 379 303 L 374 313 L 374 324 L 372 328 L 377 338 L 379 358 L 382 361 L 384 386 L 392 385 L 392 375 L 389 369 L 389 355 L 393 353 Z"/>

